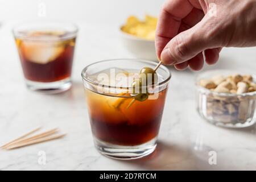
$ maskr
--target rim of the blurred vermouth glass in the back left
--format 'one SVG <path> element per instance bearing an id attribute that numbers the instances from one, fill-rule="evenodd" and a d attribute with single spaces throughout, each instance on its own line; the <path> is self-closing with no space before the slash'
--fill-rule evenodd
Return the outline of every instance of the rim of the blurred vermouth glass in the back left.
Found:
<path id="1" fill-rule="evenodd" d="M 34 40 L 34 41 L 40 41 L 40 42 L 51 42 L 51 41 L 55 41 L 55 40 L 43 40 L 43 39 L 36 39 L 36 38 L 28 38 L 27 34 L 24 34 L 22 31 L 18 30 L 18 28 L 22 27 L 22 26 L 26 26 L 26 25 L 33 25 L 33 24 L 47 24 L 47 23 L 53 23 L 53 24 L 61 24 L 62 26 L 61 29 L 63 29 L 63 31 L 65 31 L 65 26 L 71 26 L 74 30 L 72 31 L 67 31 L 68 34 L 65 36 L 60 37 L 58 40 L 67 40 L 67 39 L 71 39 L 71 38 L 75 38 L 77 35 L 77 32 L 79 31 L 79 27 L 72 22 L 69 21 L 63 21 L 63 20 L 28 20 L 28 21 L 24 21 L 21 22 L 19 24 L 16 24 L 13 27 L 13 35 L 15 38 L 21 38 L 23 40 Z M 46 25 L 47 26 L 47 25 Z M 54 29 L 54 28 L 53 28 Z M 57 29 L 57 28 L 56 28 Z M 27 28 L 27 30 L 29 31 L 30 28 Z M 37 28 L 35 28 L 35 30 L 37 30 Z M 40 31 L 40 28 L 38 28 L 38 30 Z"/>

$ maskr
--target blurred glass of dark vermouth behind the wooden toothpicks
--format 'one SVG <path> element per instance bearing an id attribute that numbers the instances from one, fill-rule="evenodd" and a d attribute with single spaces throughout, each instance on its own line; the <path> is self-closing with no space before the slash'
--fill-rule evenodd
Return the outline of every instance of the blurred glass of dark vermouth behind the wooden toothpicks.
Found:
<path id="1" fill-rule="evenodd" d="M 64 22 L 27 22 L 13 33 L 28 89 L 59 93 L 71 83 L 78 28 Z"/>

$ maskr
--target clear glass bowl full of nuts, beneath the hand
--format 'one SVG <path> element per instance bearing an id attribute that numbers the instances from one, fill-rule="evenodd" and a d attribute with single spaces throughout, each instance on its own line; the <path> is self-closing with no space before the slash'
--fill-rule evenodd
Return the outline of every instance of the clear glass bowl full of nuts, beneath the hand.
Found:
<path id="1" fill-rule="evenodd" d="M 197 110 L 216 126 L 242 128 L 256 121 L 256 75 L 230 70 L 201 73 L 196 78 Z"/>

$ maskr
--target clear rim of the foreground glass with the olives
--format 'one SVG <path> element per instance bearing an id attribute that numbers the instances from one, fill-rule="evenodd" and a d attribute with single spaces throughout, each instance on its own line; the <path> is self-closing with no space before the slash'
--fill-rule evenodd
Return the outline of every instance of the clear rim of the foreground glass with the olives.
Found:
<path id="1" fill-rule="evenodd" d="M 96 61 L 95 63 L 89 64 L 84 69 L 82 69 L 82 72 L 81 72 L 82 79 L 87 81 L 87 82 L 89 82 L 90 84 L 93 84 L 93 85 L 103 86 L 103 87 L 108 87 L 108 88 L 113 88 L 113 89 L 118 89 L 119 86 L 111 86 L 111 85 L 99 84 L 98 82 L 90 80 L 90 79 L 88 79 L 88 77 L 85 76 L 85 72 L 87 71 L 87 69 L 90 66 L 98 64 L 98 63 L 104 63 L 104 62 L 108 62 L 108 61 L 117 61 L 117 60 L 140 61 L 140 62 L 144 62 L 144 63 L 155 64 L 155 66 L 158 65 L 158 63 L 155 63 L 154 61 L 149 61 L 149 60 L 144 60 L 144 59 L 126 59 L 126 58 L 122 59 L 122 58 L 120 58 L 120 59 L 101 60 L 101 61 Z M 155 86 L 155 85 L 161 86 L 161 85 L 167 84 L 170 81 L 172 75 L 171 75 L 171 72 L 167 69 L 167 67 L 165 67 L 162 64 L 162 65 L 160 65 L 159 68 L 162 68 L 164 71 L 166 71 L 169 74 L 169 76 L 166 79 L 164 79 L 163 81 L 159 82 L 158 84 L 154 84 L 154 85 L 150 85 L 150 86 Z M 127 86 L 127 87 L 123 87 L 123 89 L 133 89 L 133 87 L 132 86 Z"/>

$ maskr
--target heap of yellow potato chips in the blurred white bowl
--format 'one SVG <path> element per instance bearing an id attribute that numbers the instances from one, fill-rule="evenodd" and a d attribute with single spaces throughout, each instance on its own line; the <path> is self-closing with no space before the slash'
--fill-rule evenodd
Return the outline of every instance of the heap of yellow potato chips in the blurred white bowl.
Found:
<path id="1" fill-rule="evenodd" d="M 143 21 L 135 16 L 129 16 L 126 20 L 126 24 L 121 27 L 121 30 L 127 34 L 138 36 L 139 38 L 155 40 L 157 21 L 157 18 L 150 15 L 146 15 Z"/>

